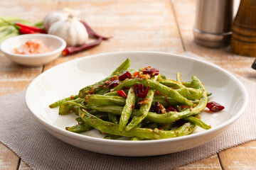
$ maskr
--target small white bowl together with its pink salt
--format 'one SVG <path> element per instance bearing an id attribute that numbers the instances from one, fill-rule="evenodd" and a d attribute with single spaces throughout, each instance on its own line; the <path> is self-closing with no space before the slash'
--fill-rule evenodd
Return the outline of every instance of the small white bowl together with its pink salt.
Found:
<path id="1" fill-rule="evenodd" d="M 62 38 L 48 34 L 26 34 L 1 43 L 1 52 L 13 62 L 39 66 L 55 60 L 66 47 Z"/>

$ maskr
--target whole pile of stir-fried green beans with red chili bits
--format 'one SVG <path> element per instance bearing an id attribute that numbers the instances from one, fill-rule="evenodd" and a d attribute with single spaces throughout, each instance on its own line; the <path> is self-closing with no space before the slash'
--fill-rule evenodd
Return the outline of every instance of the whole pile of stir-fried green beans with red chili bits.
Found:
<path id="1" fill-rule="evenodd" d="M 189 135 L 196 126 L 210 129 L 198 116 L 206 108 L 210 93 L 196 76 L 183 82 L 180 72 L 172 80 L 151 67 L 129 66 L 127 59 L 110 77 L 49 107 L 59 106 L 60 115 L 79 116 L 77 124 L 66 130 L 79 133 L 94 128 L 108 140 L 122 136 L 132 141 L 159 140 Z"/>

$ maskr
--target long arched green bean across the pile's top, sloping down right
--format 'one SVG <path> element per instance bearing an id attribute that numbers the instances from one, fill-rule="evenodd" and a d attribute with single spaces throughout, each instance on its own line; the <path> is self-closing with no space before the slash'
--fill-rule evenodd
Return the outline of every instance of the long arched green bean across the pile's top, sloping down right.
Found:
<path id="1" fill-rule="evenodd" d="M 186 106 L 193 105 L 191 101 L 181 96 L 181 94 L 178 94 L 178 92 L 174 89 L 171 89 L 168 86 L 164 86 L 159 82 L 152 81 L 151 79 L 128 79 L 127 81 L 124 81 L 122 84 L 119 84 L 118 86 L 114 87 L 114 91 L 118 91 L 122 89 L 124 86 L 133 86 L 134 84 L 143 84 L 144 86 L 150 86 L 151 89 L 156 89 L 157 91 L 160 91 L 162 94 L 166 94 L 166 96 L 174 98 L 174 100 L 183 103 Z"/>

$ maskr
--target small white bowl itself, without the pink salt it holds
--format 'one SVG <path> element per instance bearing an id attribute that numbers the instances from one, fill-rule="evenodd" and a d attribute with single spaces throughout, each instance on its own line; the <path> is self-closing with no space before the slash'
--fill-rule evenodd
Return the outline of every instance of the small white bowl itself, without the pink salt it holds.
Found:
<path id="1" fill-rule="evenodd" d="M 18 48 L 21 44 L 25 43 L 31 39 L 43 40 L 43 43 L 50 47 L 51 51 L 39 55 L 18 55 L 14 52 L 14 48 Z M 13 38 L 9 38 L 1 43 L 1 52 L 3 52 L 6 57 L 18 64 L 23 64 L 27 66 L 39 66 L 46 64 L 55 60 L 60 56 L 61 52 L 65 49 L 66 42 L 62 38 L 55 35 L 48 34 L 26 34 L 18 35 Z"/>

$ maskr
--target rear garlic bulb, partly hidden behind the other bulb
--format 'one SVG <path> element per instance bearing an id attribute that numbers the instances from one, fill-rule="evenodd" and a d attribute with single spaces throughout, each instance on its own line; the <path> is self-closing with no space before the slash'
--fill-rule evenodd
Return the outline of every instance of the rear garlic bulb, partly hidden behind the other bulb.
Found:
<path id="1" fill-rule="evenodd" d="M 45 18 L 43 18 L 43 27 L 46 28 L 48 32 L 50 26 L 57 21 L 65 21 L 68 18 L 69 13 L 63 11 L 53 11 L 48 13 Z"/>

